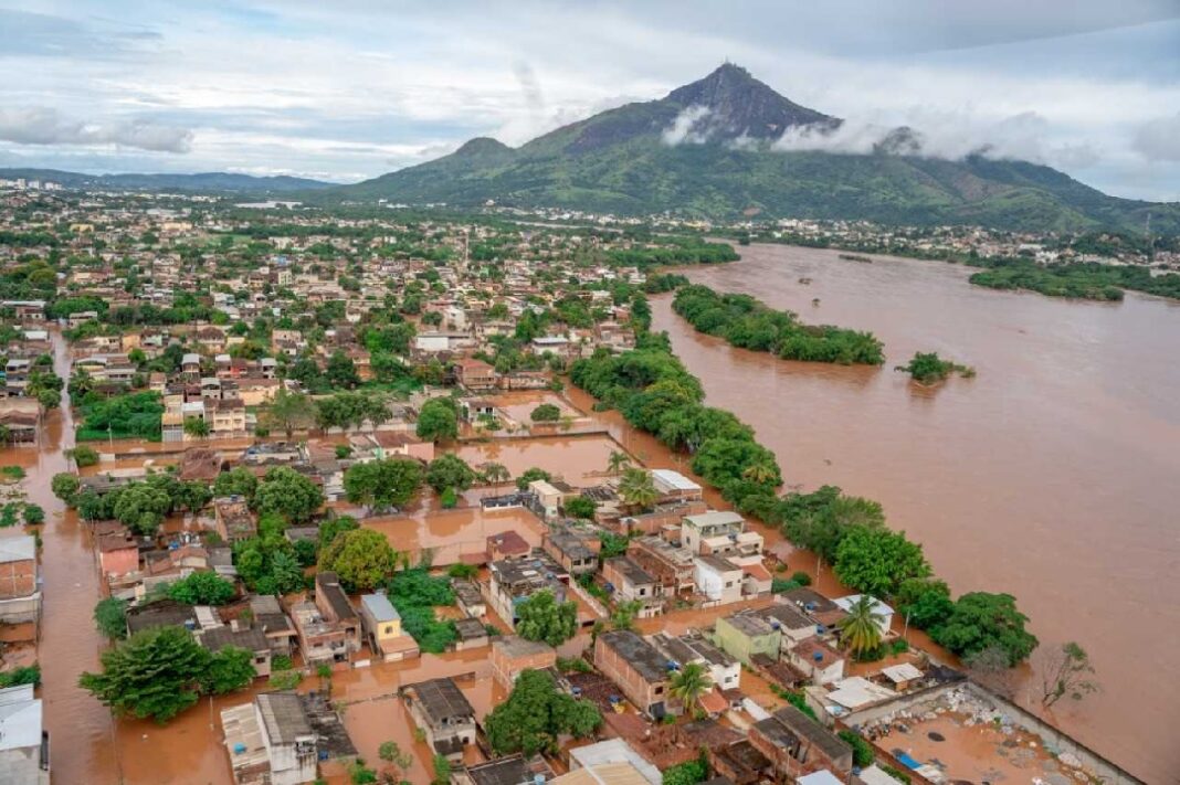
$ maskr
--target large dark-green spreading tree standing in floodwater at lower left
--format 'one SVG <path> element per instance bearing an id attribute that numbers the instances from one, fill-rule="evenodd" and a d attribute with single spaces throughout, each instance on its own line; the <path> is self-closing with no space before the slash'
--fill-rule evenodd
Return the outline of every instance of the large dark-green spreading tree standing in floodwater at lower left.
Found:
<path id="1" fill-rule="evenodd" d="M 143 629 L 101 654 L 79 686 L 116 714 L 166 723 L 197 702 L 209 652 L 183 627 Z"/>

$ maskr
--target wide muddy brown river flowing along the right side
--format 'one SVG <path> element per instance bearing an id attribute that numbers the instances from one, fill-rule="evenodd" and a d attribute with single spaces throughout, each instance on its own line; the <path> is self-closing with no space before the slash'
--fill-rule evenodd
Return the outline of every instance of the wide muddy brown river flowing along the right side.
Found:
<path id="1" fill-rule="evenodd" d="M 998 292 L 935 262 L 754 245 L 691 268 L 809 323 L 871 330 L 883 368 L 786 362 L 697 334 L 654 303 L 654 328 L 772 448 L 788 486 L 880 501 L 958 592 L 1015 594 L 1043 649 L 1076 640 L 1102 691 L 1051 719 L 1147 781 L 1180 752 L 1180 305 Z M 809 278 L 811 284 L 799 283 Z M 818 298 L 819 304 L 813 304 Z M 975 367 L 918 388 L 916 351 Z M 1034 707 L 1037 678 L 1021 702 Z"/>

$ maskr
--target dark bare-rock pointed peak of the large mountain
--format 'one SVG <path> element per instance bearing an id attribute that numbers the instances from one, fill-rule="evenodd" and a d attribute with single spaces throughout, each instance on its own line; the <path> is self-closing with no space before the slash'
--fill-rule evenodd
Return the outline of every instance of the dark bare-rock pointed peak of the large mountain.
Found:
<path id="1" fill-rule="evenodd" d="M 684 110 L 706 110 L 710 139 L 776 139 L 795 125 L 840 124 L 838 118 L 784 98 L 746 68 L 728 61 L 703 79 L 671 91 L 664 100 Z"/>

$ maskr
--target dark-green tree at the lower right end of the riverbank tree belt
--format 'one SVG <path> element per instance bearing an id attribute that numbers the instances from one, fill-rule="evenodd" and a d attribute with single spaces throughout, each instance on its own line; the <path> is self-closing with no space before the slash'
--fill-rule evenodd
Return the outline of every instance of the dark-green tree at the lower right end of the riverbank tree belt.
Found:
<path id="1" fill-rule="evenodd" d="M 1027 622 L 1028 616 L 1016 609 L 1011 594 L 970 592 L 956 600 L 946 620 L 930 629 L 930 636 L 959 657 L 998 646 L 1008 654 L 1008 664 L 1015 666 L 1038 642 L 1024 629 Z"/>

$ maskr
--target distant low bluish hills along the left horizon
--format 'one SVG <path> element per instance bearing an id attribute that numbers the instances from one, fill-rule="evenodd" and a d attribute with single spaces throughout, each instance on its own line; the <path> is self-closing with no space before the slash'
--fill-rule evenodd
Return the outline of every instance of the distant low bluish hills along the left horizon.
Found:
<path id="1" fill-rule="evenodd" d="M 288 193 L 334 185 L 303 177 L 255 177 L 234 172 L 196 174 L 84 174 L 55 169 L 0 169 L 0 179 L 41 180 L 65 187 L 105 187 L 130 191 L 208 191 L 241 193 Z"/>

